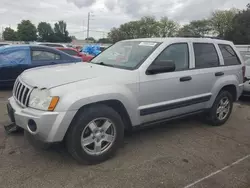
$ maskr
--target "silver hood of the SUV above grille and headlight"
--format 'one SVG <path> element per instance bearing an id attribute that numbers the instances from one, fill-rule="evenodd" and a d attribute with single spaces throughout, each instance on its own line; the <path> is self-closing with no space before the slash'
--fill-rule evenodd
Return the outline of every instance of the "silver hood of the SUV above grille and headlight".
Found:
<path id="1" fill-rule="evenodd" d="M 53 88 L 77 81 L 119 74 L 126 70 L 90 63 L 70 63 L 29 69 L 21 80 L 32 87 Z"/>

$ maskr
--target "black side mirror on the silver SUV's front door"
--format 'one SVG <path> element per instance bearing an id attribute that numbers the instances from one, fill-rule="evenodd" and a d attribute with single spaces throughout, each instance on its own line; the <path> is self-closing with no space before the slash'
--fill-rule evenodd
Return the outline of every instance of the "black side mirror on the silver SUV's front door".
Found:
<path id="1" fill-rule="evenodd" d="M 148 70 L 146 71 L 147 75 L 159 74 L 165 72 L 175 71 L 175 63 L 172 60 L 167 61 L 155 61 Z"/>

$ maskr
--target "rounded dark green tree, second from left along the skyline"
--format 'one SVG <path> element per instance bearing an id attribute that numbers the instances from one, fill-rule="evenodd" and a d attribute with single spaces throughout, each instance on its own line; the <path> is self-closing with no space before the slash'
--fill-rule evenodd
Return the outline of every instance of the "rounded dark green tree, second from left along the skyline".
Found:
<path id="1" fill-rule="evenodd" d="M 17 36 L 21 41 L 35 41 L 37 39 L 36 26 L 29 20 L 22 20 L 17 26 Z"/>

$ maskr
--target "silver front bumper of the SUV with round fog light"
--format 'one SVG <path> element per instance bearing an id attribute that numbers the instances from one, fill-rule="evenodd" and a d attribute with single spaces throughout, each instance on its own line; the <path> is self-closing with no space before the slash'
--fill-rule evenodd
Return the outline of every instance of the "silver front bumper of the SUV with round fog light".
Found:
<path id="1" fill-rule="evenodd" d="M 43 142 L 60 142 L 63 140 L 67 129 L 76 114 L 76 111 L 69 112 L 47 112 L 32 108 L 22 108 L 13 97 L 9 98 L 8 109 L 13 109 L 14 121 L 17 126 L 27 130 L 38 140 Z M 11 117 L 11 110 L 8 110 Z M 28 122 L 33 120 L 36 123 L 36 130 L 28 127 Z"/>

